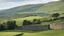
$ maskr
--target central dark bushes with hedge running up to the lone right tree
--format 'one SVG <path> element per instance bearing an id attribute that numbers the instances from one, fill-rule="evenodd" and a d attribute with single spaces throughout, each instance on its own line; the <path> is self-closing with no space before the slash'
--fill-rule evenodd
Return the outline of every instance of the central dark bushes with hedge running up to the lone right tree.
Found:
<path id="1" fill-rule="evenodd" d="M 51 21 L 56 21 L 56 20 L 59 20 L 59 19 L 64 19 L 64 17 L 59 17 L 60 14 L 59 13 L 53 13 L 51 15 L 51 17 L 53 17 L 54 19 L 45 19 L 45 20 L 42 20 L 41 19 L 33 19 L 33 21 L 28 21 L 28 20 L 23 20 L 23 25 L 32 25 L 32 24 L 41 24 L 42 22 L 51 22 Z"/>

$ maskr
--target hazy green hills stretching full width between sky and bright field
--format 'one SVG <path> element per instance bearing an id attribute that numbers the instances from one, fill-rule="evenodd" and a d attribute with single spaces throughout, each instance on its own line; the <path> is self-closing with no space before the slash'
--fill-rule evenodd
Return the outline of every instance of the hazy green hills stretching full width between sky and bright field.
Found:
<path id="1" fill-rule="evenodd" d="M 26 17 L 28 15 L 47 16 L 50 13 L 64 13 L 64 2 L 50 2 L 46 4 L 31 4 L 18 6 L 11 9 L 1 10 L 0 19 L 13 19 Z"/>

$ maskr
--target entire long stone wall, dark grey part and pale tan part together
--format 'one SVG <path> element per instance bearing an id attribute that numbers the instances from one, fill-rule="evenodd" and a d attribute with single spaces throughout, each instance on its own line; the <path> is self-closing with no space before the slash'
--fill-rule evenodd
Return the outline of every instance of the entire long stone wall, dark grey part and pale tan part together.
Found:
<path id="1" fill-rule="evenodd" d="M 50 30 L 50 29 L 64 29 L 64 24 L 50 24 L 42 26 L 19 26 L 18 30 L 27 30 L 27 31 L 41 31 L 41 30 Z"/>

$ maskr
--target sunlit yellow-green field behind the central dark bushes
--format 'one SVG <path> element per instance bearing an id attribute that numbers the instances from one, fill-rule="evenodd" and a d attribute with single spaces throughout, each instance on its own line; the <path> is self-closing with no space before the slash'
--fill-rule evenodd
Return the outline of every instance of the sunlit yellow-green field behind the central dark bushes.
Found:
<path id="1" fill-rule="evenodd" d="M 30 16 L 30 17 L 26 17 L 26 18 L 17 18 L 17 19 L 13 19 L 13 20 L 16 20 L 17 25 L 21 26 L 23 20 L 33 21 L 33 19 L 40 19 L 40 18 L 43 18 L 43 17 L 41 17 L 41 16 Z"/>

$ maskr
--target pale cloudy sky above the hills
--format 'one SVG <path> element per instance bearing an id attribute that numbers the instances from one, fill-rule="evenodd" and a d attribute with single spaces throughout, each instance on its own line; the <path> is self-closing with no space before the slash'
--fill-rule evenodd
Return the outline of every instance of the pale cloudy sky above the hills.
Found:
<path id="1" fill-rule="evenodd" d="M 58 0 L 0 0 L 0 10 L 9 9 L 27 4 L 40 4 L 40 3 L 48 3 L 52 1 L 58 1 Z"/>

